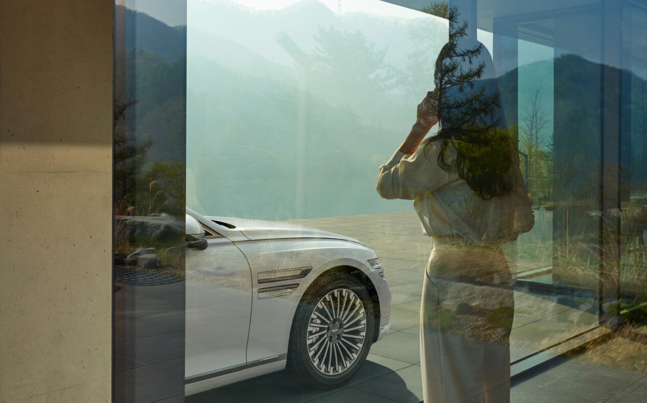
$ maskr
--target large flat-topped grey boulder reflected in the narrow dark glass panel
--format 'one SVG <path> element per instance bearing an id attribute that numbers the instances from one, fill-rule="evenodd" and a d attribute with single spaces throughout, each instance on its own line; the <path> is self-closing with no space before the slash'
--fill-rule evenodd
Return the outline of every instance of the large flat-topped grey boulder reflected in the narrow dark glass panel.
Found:
<path id="1" fill-rule="evenodd" d="M 115 242 L 129 243 L 152 239 L 157 242 L 181 242 L 184 238 L 184 221 L 170 214 L 151 216 L 115 216 Z"/>

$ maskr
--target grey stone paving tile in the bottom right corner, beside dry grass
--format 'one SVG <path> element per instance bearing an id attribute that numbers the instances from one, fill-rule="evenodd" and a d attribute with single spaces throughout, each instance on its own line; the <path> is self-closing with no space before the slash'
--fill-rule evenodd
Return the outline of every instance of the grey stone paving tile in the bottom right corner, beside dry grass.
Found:
<path id="1" fill-rule="evenodd" d="M 564 362 L 525 380 L 522 385 L 592 402 L 604 402 L 642 377 L 639 373 Z"/>

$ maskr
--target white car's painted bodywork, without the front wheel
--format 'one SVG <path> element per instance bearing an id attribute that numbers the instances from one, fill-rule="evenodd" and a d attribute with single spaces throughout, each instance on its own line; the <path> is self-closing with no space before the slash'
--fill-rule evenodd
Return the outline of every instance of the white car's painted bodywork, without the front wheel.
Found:
<path id="1" fill-rule="evenodd" d="M 384 269 L 369 266 L 377 255 L 357 240 L 296 224 L 187 214 L 223 238 L 208 239 L 204 251 L 187 249 L 186 395 L 285 368 L 298 303 L 331 268 L 366 275 L 380 306 L 374 336 L 388 331 Z"/>

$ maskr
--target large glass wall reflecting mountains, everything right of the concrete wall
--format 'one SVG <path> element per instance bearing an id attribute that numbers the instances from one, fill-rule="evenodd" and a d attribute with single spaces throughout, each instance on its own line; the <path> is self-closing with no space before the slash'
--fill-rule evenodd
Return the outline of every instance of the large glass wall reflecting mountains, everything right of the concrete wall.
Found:
<path id="1" fill-rule="evenodd" d="M 646 6 L 181 3 L 116 6 L 116 395 L 505 402 L 558 357 L 647 371 L 604 344 L 647 309 Z"/>

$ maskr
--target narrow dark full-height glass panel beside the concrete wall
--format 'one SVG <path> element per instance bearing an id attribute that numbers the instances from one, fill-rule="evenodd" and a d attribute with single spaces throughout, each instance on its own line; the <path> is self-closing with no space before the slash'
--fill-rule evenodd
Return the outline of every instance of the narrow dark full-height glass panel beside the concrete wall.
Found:
<path id="1" fill-rule="evenodd" d="M 116 402 L 184 400 L 185 99 L 186 3 L 117 1 Z"/>

